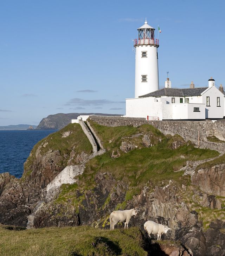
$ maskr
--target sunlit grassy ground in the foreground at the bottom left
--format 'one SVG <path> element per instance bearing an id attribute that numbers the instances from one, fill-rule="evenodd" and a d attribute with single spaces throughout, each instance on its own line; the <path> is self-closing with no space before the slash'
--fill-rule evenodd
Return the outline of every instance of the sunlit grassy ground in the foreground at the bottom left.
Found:
<path id="1" fill-rule="evenodd" d="M 103 230 L 88 226 L 20 230 L 0 225 L 0 255 L 4 256 L 147 256 L 140 229 Z"/>

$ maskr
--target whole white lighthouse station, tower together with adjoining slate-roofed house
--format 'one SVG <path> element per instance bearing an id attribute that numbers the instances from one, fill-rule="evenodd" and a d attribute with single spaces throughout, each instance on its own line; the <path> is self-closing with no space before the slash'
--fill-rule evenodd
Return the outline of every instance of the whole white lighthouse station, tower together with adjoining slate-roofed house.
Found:
<path id="1" fill-rule="evenodd" d="M 138 30 L 135 47 L 135 98 L 126 99 L 126 117 L 144 117 L 148 120 L 204 120 L 225 116 L 225 95 L 222 85 L 215 80 L 208 87 L 172 88 L 167 78 L 165 88 L 159 90 L 158 47 L 155 28 L 144 25 Z"/>

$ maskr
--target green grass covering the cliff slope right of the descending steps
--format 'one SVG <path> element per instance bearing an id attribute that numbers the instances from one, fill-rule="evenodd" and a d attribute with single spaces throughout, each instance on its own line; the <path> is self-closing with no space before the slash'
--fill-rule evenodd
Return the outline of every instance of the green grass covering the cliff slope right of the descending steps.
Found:
<path id="1" fill-rule="evenodd" d="M 188 185 L 189 176 L 183 177 L 184 172 L 176 172 L 186 165 L 187 160 L 203 160 L 219 155 L 218 152 L 210 149 L 195 148 L 191 143 L 185 143 L 178 135 L 164 136 L 148 124 L 140 127 L 105 127 L 91 122 L 91 126 L 107 152 L 86 164 L 84 173 L 79 177 L 78 185 L 62 186 L 56 200 L 57 204 L 70 203 L 78 210 L 78 206 L 82 206 L 86 191 L 96 187 L 96 173 L 110 172 L 116 180 L 122 180 L 128 184 L 125 201 L 118 205 L 118 209 L 124 209 L 127 201 L 132 199 L 133 195 L 139 194 L 146 183 L 152 191 L 155 186 L 162 186 L 162 181 L 168 184 L 170 179 L 178 186 Z M 146 133 L 149 134 L 154 146 L 144 147 L 142 139 Z M 183 146 L 172 149 L 173 142 L 179 140 Z M 124 153 L 120 149 L 122 141 L 134 143 L 138 148 Z M 113 151 L 118 151 L 120 157 L 111 158 Z M 78 194 L 76 190 L 79 190 Z M 105 201 L 105 204 L 109 203 L 110 196 Z"/>

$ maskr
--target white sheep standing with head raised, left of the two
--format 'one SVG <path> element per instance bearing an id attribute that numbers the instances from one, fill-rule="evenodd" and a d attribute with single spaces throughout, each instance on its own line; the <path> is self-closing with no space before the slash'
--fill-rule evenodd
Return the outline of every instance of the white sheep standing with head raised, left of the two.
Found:
<path id="1" fill-rule="evenodd" d="M 114 230 L 114 226 L 118 222 L 124 222 L 124 229 L 128 229 L 128 224 L 130 221 L 130 218 L 132 216 L 137 215 L 137 209 L 130 209 L 130 210 L 124 210 L 124 211 L 113 211 L 110 214 L 109 221 L 110 221 L 110 230 Z"/>

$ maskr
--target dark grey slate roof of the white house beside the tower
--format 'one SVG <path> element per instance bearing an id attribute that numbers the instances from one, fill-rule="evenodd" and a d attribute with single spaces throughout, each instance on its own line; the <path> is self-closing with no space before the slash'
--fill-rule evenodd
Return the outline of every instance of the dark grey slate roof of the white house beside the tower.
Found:
<path id="1" fill-rule="evenodd" d="M 173 96 L 173 97 L 188 97 L 188 96 L 200 96 L 208 87 L 199 88 L 186 88 L 186 89 L 176 89 L 176 88 L 163 88 L 158 91 L 153 91 L 148 94 L 139 96 L 141 97 L 160 97 L 160 96 Z"/>

